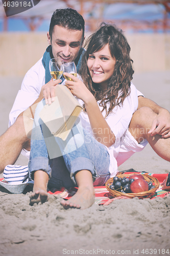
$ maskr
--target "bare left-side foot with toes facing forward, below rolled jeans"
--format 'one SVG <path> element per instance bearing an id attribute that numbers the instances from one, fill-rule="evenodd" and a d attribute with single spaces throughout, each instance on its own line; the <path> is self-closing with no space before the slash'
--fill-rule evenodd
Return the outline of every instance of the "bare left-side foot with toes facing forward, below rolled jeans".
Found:
<path id="1" fill-rule="evenodd" d="M 44 203 L 48 201 L 48 193 L 47 191 L 43 189 L 36 189 L 33 191 L 33 193 L 30 195 L 30 205 L 38 204 L 39 202 Z"/>

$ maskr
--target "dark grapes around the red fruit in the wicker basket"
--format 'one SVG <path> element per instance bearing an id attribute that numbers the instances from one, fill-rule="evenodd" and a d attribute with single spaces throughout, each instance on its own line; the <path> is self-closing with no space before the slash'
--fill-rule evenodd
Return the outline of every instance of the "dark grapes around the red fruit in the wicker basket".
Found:
<path id="1" fill-rule="evenodd" d="M 117 177 L 115 176 L 113 178 L 113 183 L 109 186 L 110 189 L 112 190 L 116 190 L 116 191 L 119 191 L 119 192 L 122 192 L 122 193 L 132 193 L 131 192 L 131 189 L 130 189 L 130 185 L 131 183 L 134 181 L 134 179 L 128 179 L 126 177 Z M 148 182 L 148 186 L 149 186 L 149 190 L 152 189 L 152 188 L 155 188 L 155 186 L 153 186 L 153 183 L 150 181 Z"/>

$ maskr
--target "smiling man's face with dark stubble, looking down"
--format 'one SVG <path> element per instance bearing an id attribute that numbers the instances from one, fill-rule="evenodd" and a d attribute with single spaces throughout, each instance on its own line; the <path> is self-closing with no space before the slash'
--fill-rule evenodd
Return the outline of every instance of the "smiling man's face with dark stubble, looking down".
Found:
<path id="1" fill-rule="evenodd" d="M 82 35 L 83 30 L 70 30 L 58 25 L 54 27 L 52 40 L 47 32 L 54 58 L 60 58 L 64 62 L 75 61 L 83 44 Z"/>

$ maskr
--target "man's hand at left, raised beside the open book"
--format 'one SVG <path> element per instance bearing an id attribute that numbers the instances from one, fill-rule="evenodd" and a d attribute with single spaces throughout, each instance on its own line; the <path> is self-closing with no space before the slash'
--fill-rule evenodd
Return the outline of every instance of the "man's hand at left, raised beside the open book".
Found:
<path id="1" fill-rule="evenodd" d="M 40 95 L 44 97 L 45 104 L 51 104 L 55 100 L 55 86 L 57 86 L 61 81 L 61 79 L 54 81 L 51 79 L 42 86 Z"/>

